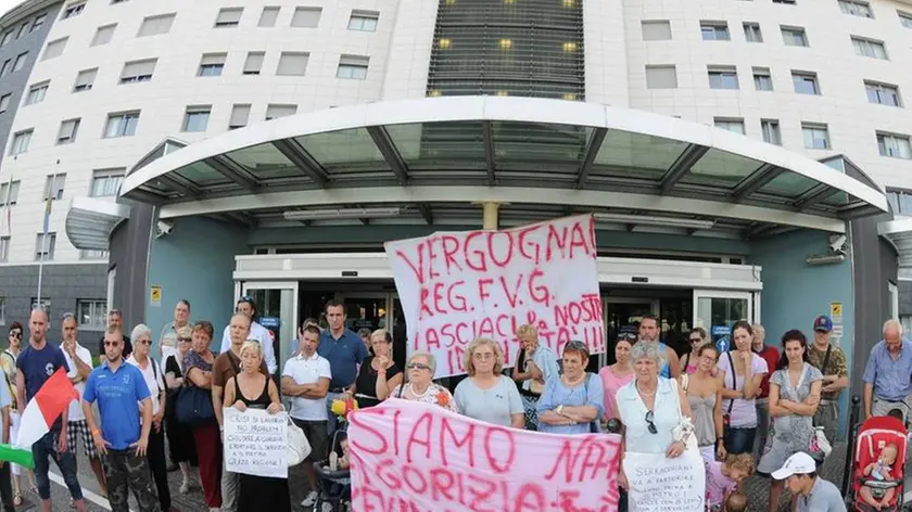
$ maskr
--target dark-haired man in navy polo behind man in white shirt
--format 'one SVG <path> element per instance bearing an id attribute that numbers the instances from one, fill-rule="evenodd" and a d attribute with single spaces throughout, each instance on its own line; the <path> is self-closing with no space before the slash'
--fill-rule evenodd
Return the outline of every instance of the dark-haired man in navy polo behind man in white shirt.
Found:
<path id="1" fill-rule="evenodd" d="M 345 305 L 340 300 L 326 303 L 326 322 L 329 329 L 320 334 L 317 354 L 329 361 L 332 380 L 329 381 L 329 393 L 326 395 L 326 408 L 329 414 L 327 432 L 330 436 L 335 432 L 338 419 L 332 413 L 332 400 L 341 398 L 350 391 L 358 376 L 358 366 L 369 355 L 362 338 L 345 328 Z"/>

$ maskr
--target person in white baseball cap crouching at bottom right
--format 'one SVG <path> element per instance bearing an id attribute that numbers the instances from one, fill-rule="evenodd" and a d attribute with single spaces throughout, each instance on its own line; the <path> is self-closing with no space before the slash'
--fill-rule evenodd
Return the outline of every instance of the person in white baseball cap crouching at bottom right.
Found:
<path id="1" fill-rule="evenodd" d="M 772 474 L 784 479 L 785 486 L 796 497 L 796 512 L 846 512 L 843 495 L 832 483 L 816 474 L 816 463 L 808 453 L 799 451 Z"/>

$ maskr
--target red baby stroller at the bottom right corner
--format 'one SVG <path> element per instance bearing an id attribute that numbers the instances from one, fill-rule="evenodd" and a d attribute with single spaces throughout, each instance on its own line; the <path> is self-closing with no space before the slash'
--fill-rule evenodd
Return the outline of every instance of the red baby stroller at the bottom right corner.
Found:
<path id="1" fill-rule="evenodd" d="M 904 511 L 902 505 L 903 477 L 905 475 L 907 431 L 901 420 L 894 417 L 874 417 L 864 421 L 858 430 L 854 446 L 854 461 L 852 462 L 852 486 L 849 490 L 849 502 L 853 503 L 852 512 L 874 511 Z M 890 478 L 877 479 L 872 474 L 864 474 L 864 469 L 872 462 L 877 462 L 881 452 L 887 445 L 897 447 L 896 463 L 890 469 Z M 872 472 L 873 473 L 873 472 Z M 867 487 L 875 499 L 882 499 L 889 489 L 894 497 L 886 507 L 876 509 L 865 503 L 860 492 Z"/>

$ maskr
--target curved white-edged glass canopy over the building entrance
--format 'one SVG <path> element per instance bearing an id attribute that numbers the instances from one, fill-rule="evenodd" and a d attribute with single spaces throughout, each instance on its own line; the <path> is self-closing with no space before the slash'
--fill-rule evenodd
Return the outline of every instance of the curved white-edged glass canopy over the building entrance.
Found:
<path id="1" fill-rule="evenodd" d="M 137 169 L 121 194 L 162 206 L 162 217 L 498 201 L 843 231 L 888 212 L 883 191 L 744 136 L 596 103 L 496 97 L 252 125 Z"/>

